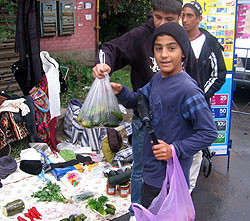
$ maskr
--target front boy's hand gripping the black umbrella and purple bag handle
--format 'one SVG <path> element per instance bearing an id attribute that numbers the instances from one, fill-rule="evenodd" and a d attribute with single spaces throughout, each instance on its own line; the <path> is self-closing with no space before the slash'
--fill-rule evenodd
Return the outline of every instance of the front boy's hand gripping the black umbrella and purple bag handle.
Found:
<path id="1" fill-rule="evenodd" d="M 158 140 L 159 144 L 152 147 L 153 153 L 157 160 L 169 160 L 173 157 L 171 146 L 163 140 Z"/>

